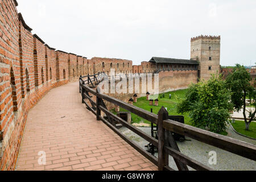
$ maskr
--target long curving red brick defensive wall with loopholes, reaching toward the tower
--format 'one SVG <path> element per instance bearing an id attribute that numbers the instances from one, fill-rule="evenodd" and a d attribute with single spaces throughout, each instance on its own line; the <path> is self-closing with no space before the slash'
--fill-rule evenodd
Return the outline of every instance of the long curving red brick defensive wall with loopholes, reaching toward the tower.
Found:
<path id="1" fill-rule="evenodd" d="M 28 111 L 50 89 L 80 75 L 93 75 L 104 71 L 147 73 L 159 72 L 159 92 L 187 88 L 197 82 L 197 69 L 183 65 L 156 65 L 143 61 L 134 66 L 133 61 L 87 57 L 67 53 L 48 46 L 32 34 L 22 14 L 16 10 L 16 0 L 0 0 L 0 169 L 14 170 Z M 159 66 L 159 67 L 158 67 Z M 153 81 L 154 82 L 154 81 Z M 117 84 L 117 83 L 116 83 Z M 134 83 L 135 84 L 135 83 Z M 136 87 L 138 85 L 134 85 Z M 139 88 L 142 90 L 141 81 Z M 134 91 L 135 93 L 135 91 Z M 134 94 L 133 93 L 133 94 Z M 128 101 L 133 94 L 113 94 Z M 138 97 L 145 94 L 137 93 Z M 111 94 L 110 94 L 111 95 Z"/>

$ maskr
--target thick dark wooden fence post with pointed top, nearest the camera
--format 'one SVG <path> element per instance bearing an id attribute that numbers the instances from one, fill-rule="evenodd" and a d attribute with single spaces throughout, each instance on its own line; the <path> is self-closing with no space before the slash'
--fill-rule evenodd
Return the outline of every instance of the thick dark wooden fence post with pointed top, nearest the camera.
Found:
<path id="1" fill-rule="evenodd" d="M 165 130 L 163 121 L 168 119 L 168 112 L 164 107 L 158 112 L 158 170 L 163 171 L 164 166 L 169 164 L 169 155 L 164 151 Z"/>

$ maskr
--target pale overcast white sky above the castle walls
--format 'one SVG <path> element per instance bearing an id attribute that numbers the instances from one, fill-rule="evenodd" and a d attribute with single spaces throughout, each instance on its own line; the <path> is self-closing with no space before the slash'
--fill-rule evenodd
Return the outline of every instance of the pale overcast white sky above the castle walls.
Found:
<path id="1" fill-rule="evenodd" d="M 50 47 L 88 57 L 190 59 L 190 40 L 221 36 L 221 65 L 255 65 L 255 0 L 17 0 Z"/>

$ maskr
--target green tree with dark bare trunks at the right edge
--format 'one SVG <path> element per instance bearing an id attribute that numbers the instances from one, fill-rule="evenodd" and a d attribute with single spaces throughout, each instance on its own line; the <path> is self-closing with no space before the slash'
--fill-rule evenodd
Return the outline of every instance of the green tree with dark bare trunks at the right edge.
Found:
<path id="1" fill-rule="evenodd" d="M 253 86 L 251 86 L 252 78 L 246 68 L 240 64 L 236 65 L 232 73 L 229 73 L 226 78 L 226 86 L 231 90 L 231 100 L 236 111 L 243 109 L 243 118 L 245 119 L 245 130 L 249 130 L 251 121 L 255 118 L 256 109 L 249 113 L 249 120 L 246 117 L 246 98 L 253 100 L 253 107 L 255 108 L 256 93 Z M 255 80 L 254 80 L 255 83 Z"/>

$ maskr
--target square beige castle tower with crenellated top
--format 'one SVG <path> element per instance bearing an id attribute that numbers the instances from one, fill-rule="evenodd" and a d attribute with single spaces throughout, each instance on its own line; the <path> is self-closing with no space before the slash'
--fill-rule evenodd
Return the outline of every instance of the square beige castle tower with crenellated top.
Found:
<path id="1" fill-rule="evenodd" d="M 199 78 L 209 80 L 220 73 L 220 36 L 197 36 L 191 39 L 191 59 L 198 60 Z"/>

